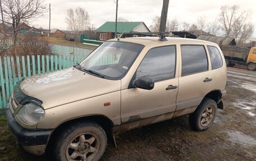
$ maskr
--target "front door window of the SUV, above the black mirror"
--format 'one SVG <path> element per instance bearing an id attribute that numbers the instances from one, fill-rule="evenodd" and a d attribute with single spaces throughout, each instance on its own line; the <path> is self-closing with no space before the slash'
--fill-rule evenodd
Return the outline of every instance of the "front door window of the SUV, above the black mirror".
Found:
<path id="1" fill-rule="evenodd" d="M 176 47 L 150 49 L 136 71 L 136 79 L 149 77 L 153 81 L 175 77 Z"/>

